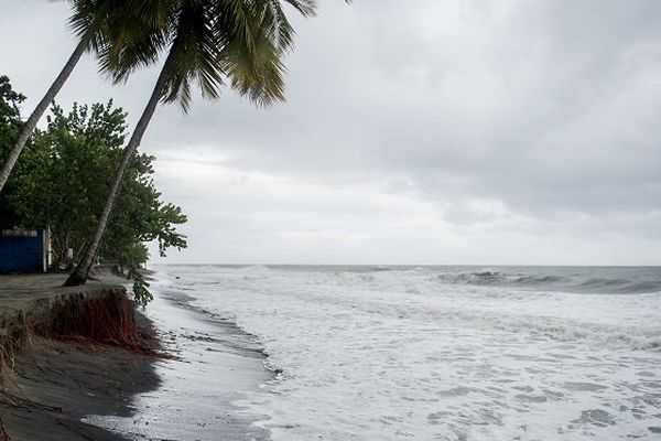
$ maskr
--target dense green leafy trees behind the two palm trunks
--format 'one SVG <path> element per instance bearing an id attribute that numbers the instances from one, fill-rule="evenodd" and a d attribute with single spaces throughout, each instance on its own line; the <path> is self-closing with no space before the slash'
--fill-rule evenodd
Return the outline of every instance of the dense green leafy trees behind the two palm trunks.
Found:
<path id="1" fill-rule="evenodd" d="M 20 122 L 17 106 L 22 96 L 2 78 L 0 121 L 2 127 L 13 127 Z M 53 105 L 47 127 L 33 135 L 3 191 L 3 209 L 15 213 L 15 223 L 26 228 L 50 227 L 61 266 L 73 263 L 67 249 L 74 250 L 75 261 L 89 245 L 121 159 L 126 129 L 126 114 L 112 101 L 74 105 L 68 112 Z M 11 146 L 6 131 L 15 133 L 0 129 L 0 147 Z M 152 179 L 153 161 L 153 157 L 138 154 L 131 162 L 99 252 L 100 261 L 129 271 L 141 303 L 151 300 L 149 283 L 139 271 L 149 258 L 144 244 L 158 241 L 161 256 L 170 248 L 186 247 L 185 236 L 176 230 L 186 216 L 181 207 L 161 200 Z"/>

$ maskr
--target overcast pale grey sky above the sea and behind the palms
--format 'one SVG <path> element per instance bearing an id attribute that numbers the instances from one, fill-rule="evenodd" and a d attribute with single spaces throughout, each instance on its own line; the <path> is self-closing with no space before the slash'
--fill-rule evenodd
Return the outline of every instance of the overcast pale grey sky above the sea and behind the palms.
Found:
<path id="1" fill-rule="evenodd" d="M 0 0 L 28 115 L 75 41 L 66 2 Z M 319 0 L 288 103 L 161 107 L 141 151 L 188 215 L 165 262 L 661 263 L 661 1 Z M 64 106 L 136 121 L 90 56 Z"/>

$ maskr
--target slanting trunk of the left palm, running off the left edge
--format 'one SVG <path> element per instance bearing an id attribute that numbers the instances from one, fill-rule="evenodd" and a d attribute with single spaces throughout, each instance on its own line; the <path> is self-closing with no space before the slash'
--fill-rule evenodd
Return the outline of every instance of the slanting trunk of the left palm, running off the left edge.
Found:
<path id="1" fill-rule="evenodd" d="M 14 147 L 9 152 L 9 157 L 4 161 L 2 169 L 0 169 L 0 192 L 2 192 L 2 187 L 7 183 L 7 180 L 9 179 L 13 166 L 15 165 L 19 157 L 21 155 L 21 152 L 25 147 L 25 142 L 28 142 L 28 138 L 30 138 L 30 135 L 36 127 L 36 123 L 44 115 L 44 112 L 48 108 L 48 105 L 53 101 L 62 86 L 64 86 L 64 83 L 66 83 L 67 78 L 74 71 L 74 67 L 76 67 L 76 64 L 78 64 L 80 56 L 83 56 L 86 50 L 86 41 L 85 39 L 82 39 L 76 49 L 74 50 L 74 53 L 72 54 L 72 56 L 69 56 L 68 61 L 59 72 L 59 75 L 57 75 L 57 78 L 55 78 L 55 80 L 46 92 L 46 95 L 44 95 L 41 101 L 39 101 L 34 111 L 32 111 L 32 115 L 30 115 L 28 121 L 25 121 L 25 125 L 23 126 L 23 129 L 21 130 L 17 142 L 14 143 Z"/>

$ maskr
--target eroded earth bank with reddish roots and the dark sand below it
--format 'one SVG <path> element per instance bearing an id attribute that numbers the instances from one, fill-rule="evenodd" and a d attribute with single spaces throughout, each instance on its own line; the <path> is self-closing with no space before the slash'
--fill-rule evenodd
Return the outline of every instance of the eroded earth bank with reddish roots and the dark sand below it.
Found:
<path id="1" fill-rule="evenodd" d="M 105 275 L 64 288 L 65 277 L 0 277 L 2 441 L 130 440 L 80 420 L 128 415 L 137 394 L 160 384 L 155 330 L 133 314 L 126 280 Z"/>

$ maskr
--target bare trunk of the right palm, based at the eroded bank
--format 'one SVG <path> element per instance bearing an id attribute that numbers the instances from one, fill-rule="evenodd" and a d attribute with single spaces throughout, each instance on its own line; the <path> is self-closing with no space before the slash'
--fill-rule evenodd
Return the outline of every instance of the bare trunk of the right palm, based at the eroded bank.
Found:
<path id="1" fill-rule="evenodd" d="M 163 93 L 165 90 L 165 85 L 167 84 L 167 79 L 170 73 L 172 72 L 173 64 L 173 52 L 171 51 L 170 55 L 165 60 L 165 64 L 159 74 L 159 78 L 156 79 L 156 85 L 154 86 L 154 90 L 147 104 L 147 107 L 142 111 L 140 119 L 138 120 L 138 125 L 131 135 L 131 139 L 129 143 L 123 150 L 123 154 L 121 157 L 121 162 L 119 163 L 119 168 L 117 170 L 117 174 L 115 175 L 115 181 L 112 182 L 112 186 L 110 187 L 110 193 L 108 194 L 108 198 L 106 200 L 106 205 L 104 206 L 104 212 L 101 213 L 101 217 L 99 218 L 99 223 L 97 225 L 96 233 L 94 234 L 94 238 L 87 249 L 85 250 L 85 255 L 74 269 L 74 271 L 69 275 L 68 279 L 64 282 L 65 287 L 77 287 L 79 284 L 84 284 L 89 276 L 89 270 L 91 269 L 91 265 L 94 263 L 94 259 L 99 250 L 101 245 L 101 240 L 104 238 L 104 234 L 106 233 L 106 228 L 108 226 L 108 219 L 110 218 L 110 214 L 112 213 L 112 208 L 115 207 L 115 203 L 117 202 L 117 197 L 119 196 L 119 192 L 121 190 L 121 183 L 123 181 L 123 176 L 131 163 L 131 160 L 136 155 L 138 151 L 138 147 L 140 146 L 140 141 L 142 140 L 142 136 L 151 121 L 152 116 L 154 115 L 154 110 L 161 100 Z"/>

